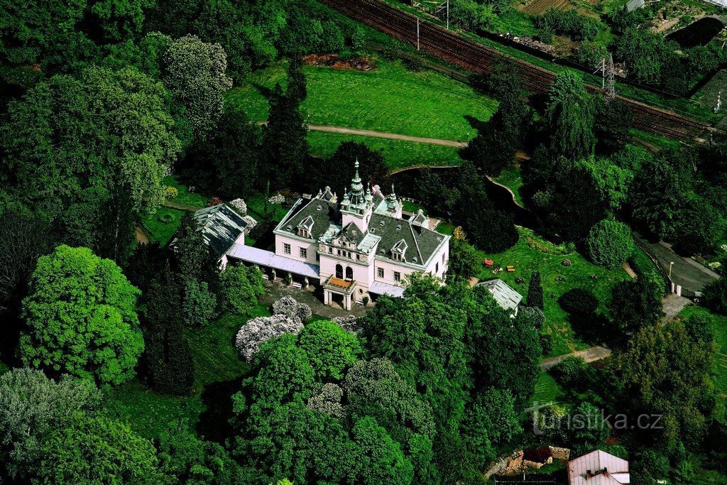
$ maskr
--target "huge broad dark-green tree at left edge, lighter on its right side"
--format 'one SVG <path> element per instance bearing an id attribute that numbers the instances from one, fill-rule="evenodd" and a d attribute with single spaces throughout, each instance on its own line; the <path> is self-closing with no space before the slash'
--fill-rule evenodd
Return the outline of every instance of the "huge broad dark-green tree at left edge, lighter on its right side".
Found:
<path id="1" fill-rule="evenodd" d="M 12 194 L 49 215 L 62 241 L 119 259 L 134 215 L 164 200 L 161 180 L 180 150 L 166 90 L 132 68 L 36 85 L 10 103 L 0 137 Z"/>

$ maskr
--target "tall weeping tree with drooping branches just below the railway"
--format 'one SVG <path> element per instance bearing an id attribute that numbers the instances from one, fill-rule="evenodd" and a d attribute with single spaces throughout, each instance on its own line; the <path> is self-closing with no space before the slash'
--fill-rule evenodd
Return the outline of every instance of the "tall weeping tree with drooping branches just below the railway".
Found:
<path id="1" fill-rule="evenodd" d="M 550 149 L 569 159 L 593 155 L 595 102 L 574 73 L 561 73 L 550 87 L 545 111 Z"/>

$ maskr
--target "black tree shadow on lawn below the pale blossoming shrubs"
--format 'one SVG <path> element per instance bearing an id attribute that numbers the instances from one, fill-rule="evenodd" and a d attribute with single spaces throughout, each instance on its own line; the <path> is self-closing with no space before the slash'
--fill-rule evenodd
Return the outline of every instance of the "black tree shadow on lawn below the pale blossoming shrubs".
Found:
<path id="1" fill-rule="evenodd" d="M 246 376 L 236 377 L 233 380 L 212 382 L 204 386 L 202 391 L 202 404 L 206 407 L 200 414 L 197 423 L 197 434 L 204 439 L 225 444 L 233 436 L 233 426 L 230 419 L 233 417 L 232 396 L 242 388 L 242 380 Z"/>

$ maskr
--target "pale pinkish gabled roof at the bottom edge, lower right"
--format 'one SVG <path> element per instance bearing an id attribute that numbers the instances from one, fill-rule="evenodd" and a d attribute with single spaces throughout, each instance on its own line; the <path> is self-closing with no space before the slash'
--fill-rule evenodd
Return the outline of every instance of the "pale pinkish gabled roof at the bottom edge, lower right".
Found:
<path id="1" fill-rule="evenodd" d="M 570 485 L 625 485 L 629 462 L 598 449 L 568 463 L 568 480 Z"/>

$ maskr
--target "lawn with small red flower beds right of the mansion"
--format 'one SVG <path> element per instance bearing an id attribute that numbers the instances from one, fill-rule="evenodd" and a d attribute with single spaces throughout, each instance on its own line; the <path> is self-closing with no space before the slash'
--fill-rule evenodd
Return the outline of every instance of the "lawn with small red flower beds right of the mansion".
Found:
<path id="1" fill-rule="evenodd" d="M 529 230 L 520 229 L 521 238 L 518 244 L 499 254 L 486 254 L 479 252 L 481 259 L 488 257 L 494 260 L 494 267 L 515 266 L 513 273 L 493 274 L 491 269 L 482 267 L 478 274 L 481 280 L 501 278 L 510 286 L 513 286 L 524 300 L 527 300 L 528 282 L 533 271 L 540 271 L 542 278 L 543 294 L 545 296 L 545 316 L 547 324 L 544 332 L 553 336 L 553 353 L 551 356 L 560 356 L 565 353 L 571 353 L 574 350 L 582 350 L 588 348 L 588 345 L 579 340 L 571 329 L 568 316 L 565 311 L 558 305 L 558 297 L 569 289 L 584 288 L 595 294 L 601 302 L 601 311 L 605 310 L 605 304 L 611 297 L 611 288 L 618 281 L 628 279 L 627 273 L 622 270 L 608 270 L 601 266 L 590 263 L 577 252 L 571 252 L 566 255 L 555 255 L 540 252 L 528 245 L 525 235 L 532 237 Z M 537 239 L 537 236 L 534 236 Z M 563 260 L 571 260 L 570 266 L 563 266 Z M 590 278 L 595 275 L 597 279 Z M 515 283 L 515 278 L 524 278 L 521 284 Z M 564 281 L 555 281 L 555 278 L 561 277 Z"/>

